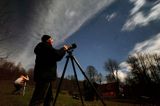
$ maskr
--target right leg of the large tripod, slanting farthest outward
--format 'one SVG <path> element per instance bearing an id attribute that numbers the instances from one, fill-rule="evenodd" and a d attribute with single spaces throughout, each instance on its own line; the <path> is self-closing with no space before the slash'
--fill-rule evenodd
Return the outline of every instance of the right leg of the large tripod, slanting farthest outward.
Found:
<path id="1" fill-rule="evenodd" d="M 74 56 L 72 56 L 73 60 L 75 61 L 75 63 L 77 64 L 78 68 L 80 69 L 80 71 L 82 72 L 82 74 L 84 75 L 84 77 L 87 79 L 87 81 L 89 82 L 89 84 L 91 85 L 91 87 L 94 89 L 94 91 L 96 92 L 96 94 L 98 95 L 99 99 L 101 100 L 101 102 L 103 103 L 104 106 L 106 106 L 105 102 L 103 101 L 103 99 L 101 98 L 100 94 L 98 93 L 98 91 L 96 90 L 96 88 L 93 86 L 93 84 L 89 81 L 89 79 L 87 78 L 86 74 L 84 73 L 83 69 L 81 68 L 80 64 L 78 63 L 78 61 L 76 60 L 76 58 Z"/>

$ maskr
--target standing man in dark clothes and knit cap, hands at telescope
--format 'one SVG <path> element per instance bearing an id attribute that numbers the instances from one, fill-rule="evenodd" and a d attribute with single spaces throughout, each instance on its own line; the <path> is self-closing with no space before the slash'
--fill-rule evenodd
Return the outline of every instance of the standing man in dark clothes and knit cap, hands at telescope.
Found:
<path id="1" fill-rule="evenodd" d="M 52 44 L 51 36 L 43 35 L 41 42 L 34 49 L 36 85 L 29 106 L 50 106 L 53 101 L 51 82 L 57 78 L 57 62 L 64 57 L 69 46 L 64 45 L 60 49 L 55 49 Z"/>

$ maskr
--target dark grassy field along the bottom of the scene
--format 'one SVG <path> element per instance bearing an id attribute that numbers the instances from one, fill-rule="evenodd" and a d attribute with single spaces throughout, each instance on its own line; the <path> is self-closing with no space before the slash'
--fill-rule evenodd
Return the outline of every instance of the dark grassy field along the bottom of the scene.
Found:
<path id="1" fill-rule="evenodd" d="M 33 87 L 27 86 L 26 93 L 22 95 L 12 95 L 14 90 L 13 82 L 8 80 L 0 81 L 0 106 L 28 106 L 31 99 Z M 55 94 L 55 93 L 54 93 Z M 146 103 L 137 103 L 136 101 L 117 101 L 113 99 L 105 100 L 106 106 L 153 106 Z M 86 102 L 85 106 L 103 106 L 100 101 Z M 80 100 L 73 99 L 67 92 L 61 91 L 56 101 L 56 106 L 82 106 Z"/>

